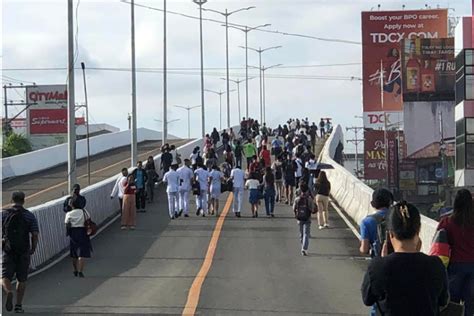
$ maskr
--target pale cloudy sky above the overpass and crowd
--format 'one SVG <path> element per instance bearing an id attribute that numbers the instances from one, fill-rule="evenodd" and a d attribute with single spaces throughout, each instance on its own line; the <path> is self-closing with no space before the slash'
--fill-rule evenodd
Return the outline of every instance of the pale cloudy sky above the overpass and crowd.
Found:
<path id="1" fill-rule="evenodd" d="M 198 16 L 191 0 L 168 0 L 168 10 Z M 136 0 L 136 4 L 161 9 L 163 1 Z M 292 117 L 319 121 L 331 117 L 343 128 L 361 126 L 361 23 L 362 11 L 449 7 L 452 16 L 471 15 L 468 0 L 451 1 L 371 1 L 371 0 L 209 0 L 204 8 L 229 11 L 255 6 L 235 13 L 230 23 L 250 27 L 270 23 L 268 30 L 298 33 L 327 39 L 252 31 L 249 47 L 282 46 L 262 54 L 262 64 L 282 64 L 266 72 L 266 118 L 276 126 Z M 77 0 L 74 1 L 77 7 Z M 223 21 L 213 12 L 203 18 Z M 137 121 L 139 127 L 161 130 L 163 106 L 163 13 L 136 7 Z M 131 112 L 130 4 L 120 0 L 81 0 L 75 25 L 76 66 L 85 62 L 91 123 L 108 123 L 128 128 Z M 205 88 L 226 90 L 225 28 L 220 23 L 203 22 Z M 168 119 L 169 133 L 187 136 L 187 113 L 174 107 L 201 103 L 199 21 L 167 15 Z M 229 29 L 229 66 L 233 79 L 245 78 L 244 33 Z M 2 83 L 65 84 L 67 80 L 66 1 L 3 0 L 2 5 Z M 258 66 L 258 54 L 249 52 L 249 65 Z M 12 69 L 33 70 L 12 70 Z M 59 70 L 38 70 L 60 68 Z M 172 71 L 171 71 L 172 70 Z M 258 70 L 250 69 L 249 114 L 259 118 Z M 282 78 L 284 77 L 284 78 Z M 339 80 L 339 78 L 343 80 Z M 353 78 L 351 80 L 351 78 Z M 337 79 L 337 80 L 334 80 Z M 231 83 L 231 89 L 237 89 Z M 82 72 L 75 73 L 76 102 L 84 102 Z M 20 93 L 21 94 L 21 93 Z M 231 92 L 231 125 L 238 122 L 237 92 Z M 19 100 L 20 96 L 15 98 Z M 240 85 L 241 116 L 245 115 L 245 84 Z M 226 126 L 226 95 L 222 97 L 222 126 Z M 201 133 L 201 110 L 191 111 L 191 136 Z M 10 109 L 15 113 L 15 109 Z M 206 93 L 206 130 L 219 128 L 219 97 Z M 82 112 L 79 111 L 79 116 Z M 350 147 L 350 145 L 347 145 Z"/>

